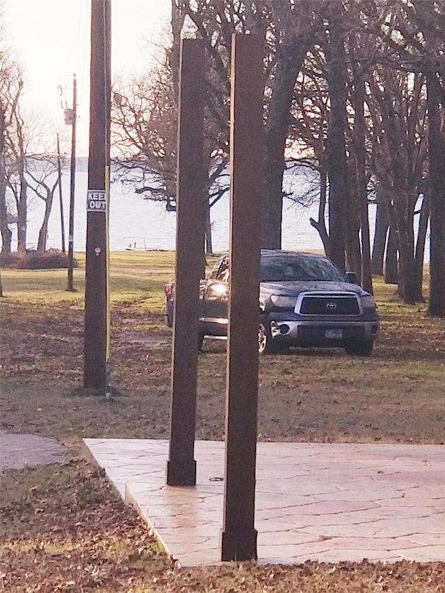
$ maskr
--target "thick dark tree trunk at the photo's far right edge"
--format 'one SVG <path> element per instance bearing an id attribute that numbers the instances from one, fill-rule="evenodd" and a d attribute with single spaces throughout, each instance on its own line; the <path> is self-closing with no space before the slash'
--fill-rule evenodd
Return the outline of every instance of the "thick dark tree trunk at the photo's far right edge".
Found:
<path id="1" fill-rule="evenodd" d="M 435 72 L 428 82 L 428 155 L 430 163 L 430 300 L 428 313 L 445 317 L 445 122 L 444 91 Z M 441 93 L 442 91 L 442 93 Z"/>

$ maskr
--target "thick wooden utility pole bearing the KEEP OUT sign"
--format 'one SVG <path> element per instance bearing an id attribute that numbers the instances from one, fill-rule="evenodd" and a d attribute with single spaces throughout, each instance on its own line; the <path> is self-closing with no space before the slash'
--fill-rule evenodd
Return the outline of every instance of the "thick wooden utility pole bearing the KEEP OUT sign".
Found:
<path id="1" fill-rule="evenodd" d="M 90 144 L 86 230 L 83 386 L 103 393 L 108 358 L 108 202 L 111 0 L 91 3 Z"/>

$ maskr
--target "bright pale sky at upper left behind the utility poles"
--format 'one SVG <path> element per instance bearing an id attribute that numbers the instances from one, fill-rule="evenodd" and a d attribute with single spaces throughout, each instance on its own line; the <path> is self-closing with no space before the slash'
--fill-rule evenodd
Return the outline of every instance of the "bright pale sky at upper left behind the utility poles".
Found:
<path id="1" fill-rule="evenodd" d="M 94 0 L 93 0 L 94 1 Z M 71 127 L 63 122 L 63 101 L 72 106 L 77 78 L 78 156 L 88 155 L 90 101 L 90 0 L 0 0 L 3 47 L 23 70 L 23 106 L 47 123 L 48 133 L 64 135 L 70 151 Z M 115 76 L 144 72 L 156 59 L 156 45 L 168 34 L 170 0 L 111 0 L 111 68 Z M 54 142 L 56 142 L 54 140 Z M 55 149 L 54 149 L 55 151 Z"/>

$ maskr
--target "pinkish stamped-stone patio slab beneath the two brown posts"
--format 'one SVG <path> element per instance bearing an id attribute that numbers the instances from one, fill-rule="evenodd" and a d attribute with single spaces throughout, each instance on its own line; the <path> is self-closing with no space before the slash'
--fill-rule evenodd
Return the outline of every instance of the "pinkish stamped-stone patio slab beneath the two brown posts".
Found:
<path id="1" fill-rule="evenodd" d="M 196 487 L 165 486 L 167 440 L 84 446 L 180 565 L 220 561 L 223 442 L 195 443 Z M 261 563 L 445 561 L 445 446 L 260 442 L 255 527 Z"/>

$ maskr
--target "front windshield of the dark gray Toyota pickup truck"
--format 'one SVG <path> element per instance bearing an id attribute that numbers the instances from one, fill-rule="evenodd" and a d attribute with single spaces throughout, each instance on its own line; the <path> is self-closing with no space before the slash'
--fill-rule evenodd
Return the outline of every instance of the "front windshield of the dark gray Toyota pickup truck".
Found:
<path id="1" fill-rule="evenodd" d="M 345 282 L 340 270 L 327 258 L 266 256 L 261 258 L 261 282 Z"/>

